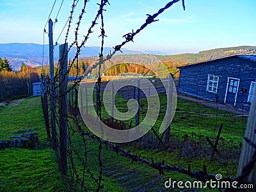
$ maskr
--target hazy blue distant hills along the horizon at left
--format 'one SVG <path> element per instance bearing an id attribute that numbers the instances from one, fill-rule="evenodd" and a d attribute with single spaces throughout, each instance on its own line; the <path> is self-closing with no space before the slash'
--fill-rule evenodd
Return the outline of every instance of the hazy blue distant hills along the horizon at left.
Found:
<path id="1" fill-rule="evenodd" d="M 58 60 L 59 50 L 58 46 L 54 49 L 54 60 Z M 44 64 L 48 63 L 49 45 L 40 44 L 0 44 L 0 57 L 4 56 L 10 60 L 13 70 L 19 70 L 21 63 L 31 67 L 38 67 L 43 62 L 43 49 L 44 49 Z M 125 49 L 124 49 L 125 50 Z M 112 47 L 104 47 L 104 54 L 113 51 Z M 83 47 L 79 57 L 99 56 L 100 47 Z M 148 51 L 151 54 L 166 54 L 164 52 Z M 129 54 L 135 54 L 136 51 L 131 51 Z M 68 56 L 73 58 L 76 54 L 76 47 L 72 47 Z"/>

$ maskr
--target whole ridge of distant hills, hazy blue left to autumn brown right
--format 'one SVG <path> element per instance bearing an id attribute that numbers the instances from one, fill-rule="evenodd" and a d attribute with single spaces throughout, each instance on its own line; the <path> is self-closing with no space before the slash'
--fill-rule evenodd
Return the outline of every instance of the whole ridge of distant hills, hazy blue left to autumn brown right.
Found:
<path id="1" fill-rule="evenodd" d="M 58 47 L 56 46 L 54 49 L 54 60 L 58 60 Z M 44 60 L 43 60 L 43 49 L 44 49 Z M 184 54 L 175 54 L 175 55 L 167 55 L 164 52 L 157 51 L 145 51 L 149 54 L 153 54 L 159 60 L 168 61 L 169 63 L 175 64 L 175 66 L 182 65 L 184 63 L 195 63 L 203 60 L 209 60 L 213 58 L 220 58 L 223 56 L 228 56 L 230 54 L 243 54 L 246 51 L 255 50 L 256 46 L 239 46 L 239 47 L 225 47 L 218 49 L 211 49 L 207 51 L 200 51 L 198 53 L 184 53 Z M 79 58 L 92 58 L 93 56 L 99 56 L 100 47 L 83 47 L 81 50 L 81 54 Z M 112 47 L 104 47 L 104 54 L 108 54 L 109 51 L 113 51 Z M 141 57 L 140 51 L 131 51 L 127 49 L 122 49 L 124 54 L 127 55 L 127 58 L 132 61 L 139 61 L 138 58 Z M 72 58 L 76 53 L 76 47 L 72 47 L 70 50 L 68 57 Z M 12 43 L 12 44 L 0 44 L 0 57 L 4 56 L 8 58 L 10 61 L 13 70 L 19 70 L 21 63 L 24 62 L 26 65 L 31 67 L 39 67 L 48 63 L 48 54 L 49 54 L 49 46 L 48 45 L 40 45 L 40 44 L 20 44 L 20 43 Z M 118 60 L 118 55 L 113 60 Z M 131 59 L 132 58 L 132 59 Z M 152 63 L 152 58 L 145 57 L 143 58 L 143 62 Z"/>

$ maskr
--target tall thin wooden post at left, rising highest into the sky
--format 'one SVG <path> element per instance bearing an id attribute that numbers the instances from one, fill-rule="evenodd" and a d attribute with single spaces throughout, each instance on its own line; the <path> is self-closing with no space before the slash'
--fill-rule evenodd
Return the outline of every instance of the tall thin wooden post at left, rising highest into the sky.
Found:
<path id="1" fill-rule="evenodd" d="M 53 60 L 53 38 L 52 20 L 49 19 L 49 66 L 50 66 L 50 95 L 51 95 L 51 127 L 52 127 L 52 148 L 57 149 L 56 132 L 56 104 L 55 104 L 55 84 L 54 84 L 54 60 Z"/>

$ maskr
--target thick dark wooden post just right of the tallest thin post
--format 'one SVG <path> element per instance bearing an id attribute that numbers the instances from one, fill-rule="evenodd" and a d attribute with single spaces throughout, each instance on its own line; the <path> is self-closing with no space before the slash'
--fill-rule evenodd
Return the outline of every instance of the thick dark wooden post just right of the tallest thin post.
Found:
<path id="1" fill-rule="evenodd" d="M 60 45 L 59 47 L 59 66 L 60 66 L 60 99 L 59 99 L 59 114 L 60 114 L 60 160 L 61 172 L 67 174 L 67 110 L 68 110 L 68 97 L 67 97 L 67 84 L 68 84 L 68 44 Z M 65 57 L 65 58 L 63 58 Z"/>

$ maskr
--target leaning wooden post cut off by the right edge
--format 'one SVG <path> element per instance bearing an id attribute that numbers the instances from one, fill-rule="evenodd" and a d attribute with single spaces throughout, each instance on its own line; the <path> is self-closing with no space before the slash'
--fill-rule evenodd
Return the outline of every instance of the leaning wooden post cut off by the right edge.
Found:
<path id="1" fill-rule="evenodd" d="M 256 144 L 256 93 L 255 91 L 256 90 L 254 90 L 252 105 L 251 105 L 248 120 L 247 120 L 246 131 L 244 133 L 244 138 L 252 141 L 254 144 Z M 244 140 L 241 155 L 240 155 L 240 160 L 239 160 L 239 166 L 237 170 L 237 177 L 243 175 L 246 172 L 246 170 L 244 170 L 244 166 L 250 163 L 253 158 L 254 159 L 256 158 L 255 148 L 253 148 L 250 144 L 248 144 L 248 142 Z M 249 182 L 254 184 L 254 186 L 256 186 L 256 164 L 255 163 L 253 164 L 252 170 L 249 170 L 249 171 L 250 171 L 250 174 L 244 177 L 243 182 Z"/>

